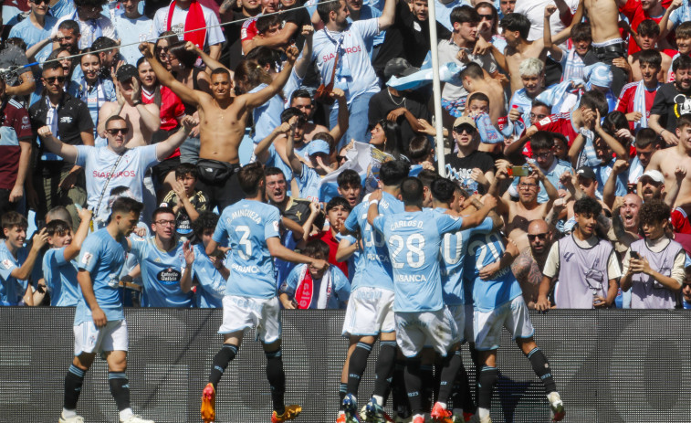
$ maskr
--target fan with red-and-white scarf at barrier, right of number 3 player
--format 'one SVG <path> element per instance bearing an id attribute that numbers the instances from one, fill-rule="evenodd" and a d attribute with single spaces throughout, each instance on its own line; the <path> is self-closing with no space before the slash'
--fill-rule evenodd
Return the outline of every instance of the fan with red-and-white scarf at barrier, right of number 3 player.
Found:
<path id="1" fill-rule="evenodd" d="M 313 259 L 328 259 L 330 248 L 326 242 L 313 239 L 302 253 Z M 280 301 L 287 309 L 344 309 L 351 295 L 351 283 L 335 266 L 319 270 L 300 264 L 281 284 Z"/>

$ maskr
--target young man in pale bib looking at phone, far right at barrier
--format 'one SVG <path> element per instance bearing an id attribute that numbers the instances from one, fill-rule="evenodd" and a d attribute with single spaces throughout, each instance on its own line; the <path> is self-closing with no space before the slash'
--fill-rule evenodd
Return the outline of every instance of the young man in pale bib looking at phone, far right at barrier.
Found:
<path id="1" fill-rule="evenodd" d="M 680 303 L 686 252 L 666 234 L 670 207 L 646 201 L 639 212 L 644 238 L 623 258 L 622 290 L 631 290 L 632 309 L 673 309 Z"/>

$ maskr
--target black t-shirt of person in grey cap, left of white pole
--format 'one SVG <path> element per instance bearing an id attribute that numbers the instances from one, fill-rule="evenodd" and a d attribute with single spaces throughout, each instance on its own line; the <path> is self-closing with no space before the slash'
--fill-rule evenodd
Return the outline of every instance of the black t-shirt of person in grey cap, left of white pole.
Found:
<path id="1" fill-rule="evenodd" d="M 401 93 L 399 92 L 399 94 Z M 387 88 L 384 88 L 372 96 L 372 99 L 370 99 L 370 110 L 367 113 L 370 128 L 373 128 L 382 119 L 386 119 L 390 111 L 400 107 L 408 109 L 408 111 L 413 113 L 414 117 L 430 122 L 430 112 L 427 109 L 423 96 L 417 92 L 405 92 L 403 94 L 404 97 L 395 97 Z M 415 132 L 408 120 L 405 119 L 405 116 L 402 115 L 396 122 L 401 126 L 401 140 L 403 148 L 407 151 L 410 139 L 414 137 Z"/>

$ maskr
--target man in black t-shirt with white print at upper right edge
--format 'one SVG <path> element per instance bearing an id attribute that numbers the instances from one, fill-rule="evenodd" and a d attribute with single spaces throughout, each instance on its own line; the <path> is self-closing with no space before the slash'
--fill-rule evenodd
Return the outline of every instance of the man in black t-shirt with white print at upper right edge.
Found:
<path id="1" fill-rule="evenodd" d="M 648 127 L 668 145 L 679 143 L 679 134 L 675 133 L 678 131 L 679 117 L 691 112 L 691 57 L 685 55 L 675 58 L 672 71 L 675 81 L 657 90 L 648 122 Z"/>

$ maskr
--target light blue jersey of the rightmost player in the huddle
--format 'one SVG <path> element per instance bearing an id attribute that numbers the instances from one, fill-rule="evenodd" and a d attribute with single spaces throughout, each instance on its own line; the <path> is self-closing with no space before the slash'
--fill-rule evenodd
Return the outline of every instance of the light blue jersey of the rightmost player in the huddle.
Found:
<path id="1" fill-rule="evenodd" d="M 501 259 L 502 254 L 504 242 L 497 232 L 470 238 L 464 271 L 466 279 L 472 281 L 475 310 L 491 312 L 522 293 L 510 267 L 497 271 L 490 280 L 480 279 L 480 270 Z"/>

